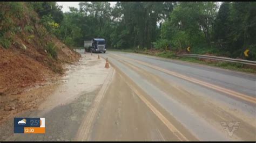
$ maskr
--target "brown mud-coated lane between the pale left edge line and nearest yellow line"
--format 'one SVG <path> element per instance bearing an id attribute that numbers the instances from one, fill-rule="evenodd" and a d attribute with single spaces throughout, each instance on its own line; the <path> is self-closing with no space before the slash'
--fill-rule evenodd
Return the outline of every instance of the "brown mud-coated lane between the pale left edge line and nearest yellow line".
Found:
<path id="1" fill-rule="evenodd" d="M 180 140 L 177 128 L 188 140 L 197 140 L 173 117 L 145 94 L 129 77 L 116 69 L 117 73 L 109 85 L 103 102 L 100 104 L 95 121 L 92 123 L 88 140 L 93 141 L 177 141 Z M 160 114 L 175 127 L 166 126 L 158 113 L 152 112 L 147 103 L 130 86 L 135 87 Z M 95 107 L 96 108 L 96 107 Z M 156 115 L 157 114 L 157 115 Z"/>

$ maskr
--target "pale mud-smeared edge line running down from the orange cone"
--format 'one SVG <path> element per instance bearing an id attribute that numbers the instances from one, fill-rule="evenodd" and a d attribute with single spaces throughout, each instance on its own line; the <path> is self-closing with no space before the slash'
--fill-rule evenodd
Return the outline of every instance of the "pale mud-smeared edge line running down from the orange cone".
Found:
<path id="1" fill-rule="evenodd" d="M 115 70 L 110 71 L 109 75 L 106 77 L 106 79 L 102 85 L 102 88 L 100 89 L 98 95 L 95 98 L 95 101 L 93 101 L 90 110 L 88 111 L 88 113 L 86 113 L 86 116 L 83 119 L 83 122 L 78 129 L 75 140 L 77 140 L 77 141 L 89 140 L 93 120 L 95 119 L 96 112 L 99 108 L 100 101 L 102 101 L 102 99 L 105 95 L 105 92 L 106 92 L 107 88 L 109 87 L 111 79 L 113 79 L 114 73 L 115 73 Z"/>

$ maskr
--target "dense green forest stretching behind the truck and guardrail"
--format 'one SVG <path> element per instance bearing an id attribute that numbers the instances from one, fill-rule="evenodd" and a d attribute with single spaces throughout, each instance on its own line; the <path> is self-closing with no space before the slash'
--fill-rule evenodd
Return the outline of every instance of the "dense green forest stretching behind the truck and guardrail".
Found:
<path id="1" fill-rule="evenodd" d="M 26 2 L 50 34 L 71 47 L 105 38 L 108 48 L 166 49 L 256 60 L 256 2 Z"/>

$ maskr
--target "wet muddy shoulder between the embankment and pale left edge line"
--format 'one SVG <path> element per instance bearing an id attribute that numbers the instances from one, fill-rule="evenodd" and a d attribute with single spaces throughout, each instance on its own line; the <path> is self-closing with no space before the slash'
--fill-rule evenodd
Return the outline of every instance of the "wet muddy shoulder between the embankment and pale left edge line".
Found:
<path id="1" fill-rule="evenodd" d="M 2 141 L 70 141 L 82 122 L 93 99 L 113 69 L 105 69 L 105 60 L 86 54 L 76 65 L 70 65 L 65 76 L 55 84 L 26 92 L 23 96 L 44 97 L 37 110 L 15 117 L 45 118 L 45 134 L 14 134 L 13 118 L 0 125 Z M 35 95 L 37 94 L 37 95 Z M 33 104 L 33 101 L 31 102 Z"/>

